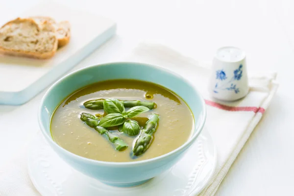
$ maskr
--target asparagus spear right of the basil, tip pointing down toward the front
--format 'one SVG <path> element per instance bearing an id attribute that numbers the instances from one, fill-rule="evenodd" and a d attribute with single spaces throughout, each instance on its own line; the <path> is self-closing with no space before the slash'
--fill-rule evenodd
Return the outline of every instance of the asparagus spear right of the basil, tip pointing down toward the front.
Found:
<path id="1" fill-rule="evenodd" d="M 156 131 L 158 117 L 158 114 L 152 114 L 150 119 L 146 122 L 146 126 L 142 129 L 142 132 L 133 148 L 134 155 L 139 156 L 149 148 L 153 138 L 152 135 Z"/>

